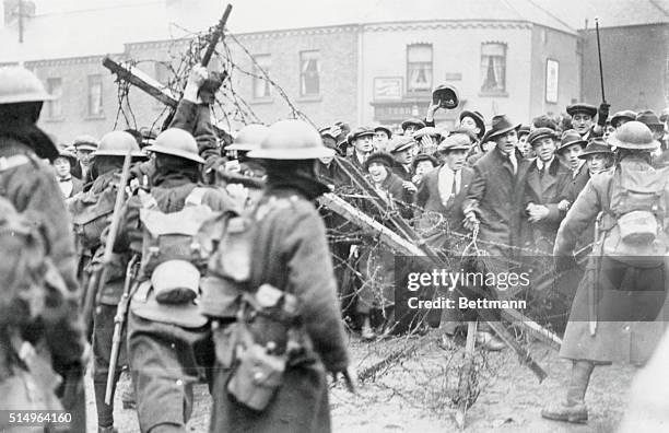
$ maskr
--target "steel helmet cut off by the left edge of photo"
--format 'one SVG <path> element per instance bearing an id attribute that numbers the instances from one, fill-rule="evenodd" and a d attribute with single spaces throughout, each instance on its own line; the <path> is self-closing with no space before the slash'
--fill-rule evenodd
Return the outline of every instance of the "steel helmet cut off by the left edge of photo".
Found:
<path id="1" fill-rule="evenodd" d="M 42 81 L 21 67 L 0 68 L 0 104 L 17 104 L 54 100 Z"/>

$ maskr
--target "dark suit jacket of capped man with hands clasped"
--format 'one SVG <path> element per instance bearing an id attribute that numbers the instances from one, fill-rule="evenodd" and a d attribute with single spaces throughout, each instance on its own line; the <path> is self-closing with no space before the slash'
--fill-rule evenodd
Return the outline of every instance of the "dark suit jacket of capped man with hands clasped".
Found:
<path id="1" fill-rule="evenodd" d="M 543 250 L 547 254 L 552 253 L 558 227 L 560 227 L 560 222 L 566 214 L 566 211 L 558 209 L 558 204 L 570 185 L 571 175 L 571 171 L 558 157 L 553 159 L 543 175 L 539 173 L 537 160 L 530 163 L 523 197 L 523 218 L 526 222 L 524 224 L 524 229 L 526 229 L 524 244 L 528 248 Z M 529 203 L 547 207 L 549 210 L 548 216 L 535 223 L 527 221 L 528 216 L 525 209 Z"/>

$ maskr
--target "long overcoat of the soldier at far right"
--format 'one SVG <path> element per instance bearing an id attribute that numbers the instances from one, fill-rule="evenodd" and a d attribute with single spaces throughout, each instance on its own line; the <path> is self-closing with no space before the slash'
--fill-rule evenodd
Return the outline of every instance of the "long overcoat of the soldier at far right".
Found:
<path id="1" fill-rule="evenodd" d="M 609 197 L 611 182 L 617 172 L 622 171 L 624 176 L 625 168 L 630 167 L 641 171 L 653 169 L 647 162 L 625 159 L 615 169 L 596 174 L 590 178 L 558 231 L 553 251 L 555 256 L 571 255 L 582 233 L 599 212 L 612 211 Z M 669 190 L 665 190 L 664 200 L 669 202 Z M 665 220 L 666 218 L 665 215 Z M 597 250 L 595 254 L 598 254 Z M 619 290 L 611 290 L 603 285 L 607 281 L 603 280 L 603 273 L 594 265 L 595 259 L 595 255 L 590 257 L 586 274 L 578 285 L 560 355 L 597 363 L 620 361 L 644 363 L 659 341 L 665 327 L 660 320 L 666 320 L 667 315 L 666 306 L 662 308 L 666 301 L 666 265 L 642 269 L 636 273 L 632 284 L 642 290 L 624 290 L 622 286 Z M 649 290 L 650 286 L 655 286 L 656 290 Z M 598 289 L 591 292 L 592 295 L 589 291 L 594 288 Z M 590 296 L 595 296 L 596 300 L 595 336 L 591 336 L 589 330 L 589 321 L 592 319 L 589 311 Z M 653 321 L 653 318 L 648 317 L 644 317 L 646 321 L 634 320 L 636 316 L 641 318 L 639 315 L 657 316 L 658 321 Z"/>

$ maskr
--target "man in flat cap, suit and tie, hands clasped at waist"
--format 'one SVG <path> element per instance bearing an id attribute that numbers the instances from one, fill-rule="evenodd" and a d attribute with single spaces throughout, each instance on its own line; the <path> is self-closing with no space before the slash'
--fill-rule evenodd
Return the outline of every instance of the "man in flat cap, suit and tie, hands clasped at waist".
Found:
<path id="1" fill-rule="evenodd" d="M 528 168 L 523 199 L 528 222 L 525 245 L 551 254 L 558 227 L 566 213 L 559 204 L 571 174 L 555 157 L 555 131 L 550 128 L 535 129 L 527 141 L 537 159 Z"/>

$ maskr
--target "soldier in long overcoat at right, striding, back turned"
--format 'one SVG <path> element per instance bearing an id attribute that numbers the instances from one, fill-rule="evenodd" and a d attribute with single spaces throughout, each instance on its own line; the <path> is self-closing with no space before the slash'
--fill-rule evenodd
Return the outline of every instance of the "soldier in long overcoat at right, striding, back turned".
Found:
<path id="1" fill-rule="evenodd" d="M 572 360 L 566 400 L 541 411 L 552 420 L 586 422 L 585 395 L 595 365 L 643 363 L 662 331 L 661 324 L 641 321 L 655 320 L 666 297 L 669 173 L 650 165 L 659 143 L 645 125 L 630 121 L 610 141 L 619 152 L 615 168 L 590 178 L 560 226 L 553 250 L 558 270 L 570 266 L 583 231 L 597 219 L 597 243 L 560 349 Z"/>

